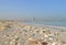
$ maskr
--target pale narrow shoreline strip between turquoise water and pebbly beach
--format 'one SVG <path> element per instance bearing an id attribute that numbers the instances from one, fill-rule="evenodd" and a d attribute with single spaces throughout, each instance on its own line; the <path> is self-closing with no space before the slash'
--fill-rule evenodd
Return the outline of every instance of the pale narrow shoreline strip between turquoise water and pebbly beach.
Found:
<path id="1" fill-rule="evenodd" d="M 22 24 L 28 24 L 28 25 L 32 25 L 32 26 L 42 26 L 42 27 L 50 27 L 50 29 L 63 29 L 66 30 L 66 26 L 56 26 L 56 25 L 42 25 L 42 24 L 30 24 L 30 23 L 22 23 Z"/>

